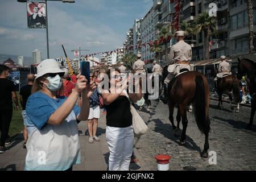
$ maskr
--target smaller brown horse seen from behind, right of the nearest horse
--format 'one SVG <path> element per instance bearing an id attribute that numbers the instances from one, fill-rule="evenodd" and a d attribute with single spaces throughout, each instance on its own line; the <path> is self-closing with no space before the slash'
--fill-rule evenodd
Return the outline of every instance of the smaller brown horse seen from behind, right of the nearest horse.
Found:
<path id="1" fill-rule="evenodd" d="M 234 75 L 225 76 L 223 78 L 218 79 L 217 93 L 218 93 L 218 106 L 222 109 L 222 94 L 226 93 L 229 96 L 230 100 L 230 109 L 234 110 L 232 107 L 232 93 L 236 100 L 237 109 L 236 112 L 239 112 L 240 109 L 240 93 L 239 93 L 239 81 L 237 77 Z"/>

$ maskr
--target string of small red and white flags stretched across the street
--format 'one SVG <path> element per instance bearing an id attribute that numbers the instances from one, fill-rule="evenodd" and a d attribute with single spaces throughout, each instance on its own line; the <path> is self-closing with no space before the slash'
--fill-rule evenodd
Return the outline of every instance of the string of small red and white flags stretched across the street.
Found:
<path id="1" fill-rule="evenodd" d="M 138 44 L 136 46 L 126 46 L 125 49 L 128 49 L 128 50 L 131 50 L 131 49 L 141 49 L 141 47 L 145 47 L 148 45 L 150 47 L 152 46 L 158 46 L 160 43 L 163 43 L 164 41 L 168 40 L 170 41 L 172 39 L 171 36 L 168 36 L 167 38 L 160 38 L 159 40 L 155 40 L 154 42 L 153 41 L 150 41 L 150 42 L 146 42 L 146 43 L 143 43 L 143 44 Z M 121 51 L 121 48 L 118 48 L 118 49 L 115 49 L 115 50 L 112 50 L 112 51 L 105 51 L 105 52 L 97 52 L 97 53 L 92 53 L 92 54 L 89 54 L 89 55 L 82 55 L 81 57 L 84 57 L 85 59 L 88 58 L 88 57 L 94 57 L 96 55 L 112 55 L 112 53 L 118 53 L 119 51 Z"/>

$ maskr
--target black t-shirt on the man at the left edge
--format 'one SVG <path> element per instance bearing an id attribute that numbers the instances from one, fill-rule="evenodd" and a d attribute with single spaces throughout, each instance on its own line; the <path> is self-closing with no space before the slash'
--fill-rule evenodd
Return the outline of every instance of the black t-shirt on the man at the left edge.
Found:
<path id="1" fill-rule="evenodd" d="M 15 92 L 14 82 L 0 78 L 0 107 L 13 105 L 11 92 Z"/>

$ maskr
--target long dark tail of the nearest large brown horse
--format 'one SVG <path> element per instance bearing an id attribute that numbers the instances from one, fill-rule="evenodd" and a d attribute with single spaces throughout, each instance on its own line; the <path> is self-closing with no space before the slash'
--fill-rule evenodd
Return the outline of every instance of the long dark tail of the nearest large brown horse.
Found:
<path id="1" fill-rule="evenodd" d="M 196 76 L 196 100 L 195 100 L 195 119 L 199 130 L 206 134 L 210 131 L 209 119 L 209 93 L 206 93 L 206 82 L 203 77 Z"/>

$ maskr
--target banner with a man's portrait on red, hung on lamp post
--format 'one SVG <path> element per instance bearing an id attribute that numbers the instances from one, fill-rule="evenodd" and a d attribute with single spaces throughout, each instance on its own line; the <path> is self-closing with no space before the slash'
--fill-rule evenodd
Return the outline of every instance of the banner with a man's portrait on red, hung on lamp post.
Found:
<path id="1" fill-rule="evenodd" d="M 27 27 L 46 28 L 46 3 L 27 2 Z"/>

